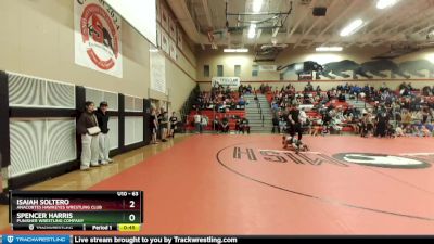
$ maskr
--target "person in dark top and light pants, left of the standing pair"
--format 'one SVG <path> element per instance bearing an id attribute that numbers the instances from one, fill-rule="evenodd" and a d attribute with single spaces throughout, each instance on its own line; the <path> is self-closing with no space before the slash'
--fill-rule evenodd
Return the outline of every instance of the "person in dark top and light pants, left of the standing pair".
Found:
<path id="1" fill-rule="evenodd" d="M 90 166 L 100 166 L 98 164 L 100 153 L 98 138 L 101 129 L 98 127 L 98 119 L 93 114 L 93 102 L 88 101 L 85 105 L 85 112 L 77 121 L 77 133 L 81 136 L 81 170 L 88 170 Z"/>

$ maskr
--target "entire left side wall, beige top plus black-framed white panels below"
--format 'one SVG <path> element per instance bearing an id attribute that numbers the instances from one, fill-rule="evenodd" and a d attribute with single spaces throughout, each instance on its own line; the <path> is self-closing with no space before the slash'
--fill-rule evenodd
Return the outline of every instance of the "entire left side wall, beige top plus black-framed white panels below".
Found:
<path id="1" fill-rule="evenodd" d="M 2 188 L 79 167 L 76 117 L 85 101 L 108 101 L 113 156 L 149 143 L 149 99 L 168 99 L 178 111 L 196 86 L 196 60 L 184 40 L 176 61 L 164 54 L 169 95 L 151 92 L 151 46 L 126 22 L 123 78 L 76 65 L 73 0 L 0 0 L 0 16 Z"/>

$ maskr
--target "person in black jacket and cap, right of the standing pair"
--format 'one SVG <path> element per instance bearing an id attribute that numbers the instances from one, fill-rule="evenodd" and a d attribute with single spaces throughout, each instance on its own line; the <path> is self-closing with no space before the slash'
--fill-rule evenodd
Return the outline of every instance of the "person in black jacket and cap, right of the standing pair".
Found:
<path id="1" fill-rule="evenodd" d="M 113 160 L 108 157 L 110 153 L 110 138 L 108 138 L 108 104 L 107 102 L 101 102 L 100 107 L 97 111 L 98 126 L 101 129 L 100 133 L 100 160 L 102 165 L 112 163 Z"/>

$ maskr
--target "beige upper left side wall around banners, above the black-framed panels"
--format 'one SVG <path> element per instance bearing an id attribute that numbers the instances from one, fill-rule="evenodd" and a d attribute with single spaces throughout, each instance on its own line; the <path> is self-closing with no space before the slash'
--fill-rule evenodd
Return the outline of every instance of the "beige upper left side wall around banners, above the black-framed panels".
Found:
<path id="1" fill-rule="evenodd" d="M 150 43 L 126 22 L 122 24 L 124 72 L 117 78 L 75 64 L 74 1 L 2 0 L 0 7 L 0 70 L 149 98 Z M 183 47 L 176 62 L 166 56 L 167 87 L 177 93 L 174 110 L 195 86 L 196 61 L 188 44 Z"/>

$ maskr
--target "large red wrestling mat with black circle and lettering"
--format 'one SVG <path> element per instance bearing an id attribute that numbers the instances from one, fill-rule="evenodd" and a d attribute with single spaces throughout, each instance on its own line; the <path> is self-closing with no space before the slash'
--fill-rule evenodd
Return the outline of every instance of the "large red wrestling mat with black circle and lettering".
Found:
<path id="1" fill-rule="evenodd" d="M 194 136 L 91 190 L 143 190 L 140 234 L 434 232 L 434 139 L 304 142 Z"/>

